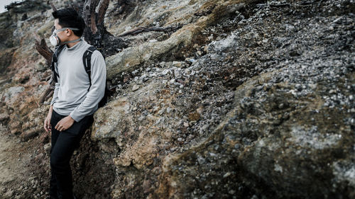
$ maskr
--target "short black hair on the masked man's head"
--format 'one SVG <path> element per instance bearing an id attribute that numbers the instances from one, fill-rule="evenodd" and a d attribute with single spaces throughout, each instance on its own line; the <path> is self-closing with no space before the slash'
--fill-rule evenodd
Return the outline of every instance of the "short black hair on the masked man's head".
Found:
<path id="1" fill-rule="evenodd" d="M 60 8 L 52 13 L 54 18 L 58 18 L 58 24 L 62 28 L 78 28 L 79 30 L 72 30 L 78 37 L 82 36 L 85 28 L 84 19 L 77 14 L 73 8 Z"/>

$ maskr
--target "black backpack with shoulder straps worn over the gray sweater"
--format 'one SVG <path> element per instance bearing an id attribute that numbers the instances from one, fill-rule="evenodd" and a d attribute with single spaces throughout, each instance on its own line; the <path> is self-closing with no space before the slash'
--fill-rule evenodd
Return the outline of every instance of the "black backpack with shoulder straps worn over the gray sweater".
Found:
<path id="1" fill-rule="evenodd" d="M 51 64 L 50 69 L 53 72 L 53 80 L 55 81 L 55 83 L 58 82 L 58 77 L 59 77 L 59 74 L 57 72 L 55 72 L 55 67 L 58 67 L 58 56 L 60 55 L 60 52 L 62 52 L 64 46 L 65 45 L 60 45 L 60 46 L 56 47 L 55 52 L 53 53 L 53 57 L 52 57 L 52 64 Z M 96 47 L 90 46 L 84 52 L 84 55 L 82 55 L 82 63 L 84 64 L 84 69 L 85 69 L 85 72 L 87 72 L 87 76 L 89 76 L 89 83 L 90 83 L 89 89 L 87 89 L 87 91 L 90 90 L 91 85 L 92 85 L 91 84 L 91 56 L 95 50 L 97 50 Z M 102 97 L 101 101 L 99 101 L 99 108 L 101 108 L 102 106 L 104 106 L 107 103 L 107 98 L 109 96 L 109 93 L 110 93 L 110 91 L 107 87 L 107 82 L 106 82 L 104 97 Z"/>

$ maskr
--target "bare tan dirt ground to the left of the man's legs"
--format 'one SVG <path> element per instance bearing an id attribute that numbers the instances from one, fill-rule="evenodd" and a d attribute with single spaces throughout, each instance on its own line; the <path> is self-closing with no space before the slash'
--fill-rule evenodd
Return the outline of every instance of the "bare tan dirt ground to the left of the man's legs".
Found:
<path id="1" fill-rule="evenodd" d="M 43 176 L 38 180 L 38 166 L 43 164 L 37 163 L 38 160 L 49 162 L 49 159 L 43 153 L 38 153 L 38 141 L 39 139 L 23 142 L 0 125 L 1 199 L 28 198 L 28 195 L 32 195 L 31 198 L 43 198 L 46 195 L 49 178 Z"/>

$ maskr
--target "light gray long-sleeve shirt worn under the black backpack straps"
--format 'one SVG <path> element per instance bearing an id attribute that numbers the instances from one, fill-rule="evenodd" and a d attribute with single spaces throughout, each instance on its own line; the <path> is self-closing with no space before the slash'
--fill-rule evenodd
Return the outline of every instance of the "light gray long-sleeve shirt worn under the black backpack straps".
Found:
<path id="1" fill-rule="evenodd" d="M 60 115 L 70 115 L 79 122 L 92 115 L 104 96 L 106 86 L 106 64 L 102 54 L 95 50 L 91 59 L 92 86 L 82 63 L 82 55 L 90 45 L 81 40 L 73 47 L 65 46 L 58 57 L 58 83 L 55 84 L 50 105 Z M 89 91 L 87 91 L 89 89 Z"/>

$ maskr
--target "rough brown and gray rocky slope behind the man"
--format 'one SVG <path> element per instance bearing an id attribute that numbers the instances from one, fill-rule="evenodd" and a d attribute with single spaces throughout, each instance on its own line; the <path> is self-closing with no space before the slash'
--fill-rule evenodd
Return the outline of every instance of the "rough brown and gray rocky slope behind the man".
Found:
<path id="1" fill-rule="evenodd" d="M 13 33 L 1 35 L 0 120 L 30 145 L 33 176 L 20 192 L 18 179 L 2 182 L 4 198 L 44 198 L 48 186 L 48 106 L 36 102 L 50 71 L 33 33 L 48 37 L 53 20 L 40 5 L 24 20 L 1 16 Z M 354 198 L 354 10 L 351 0 L 111 1 L 117 37 L 170 28 L 120 36 L 126 47 L 107 52 L 116 92 L 72 159 L 75 193 Z"/>

